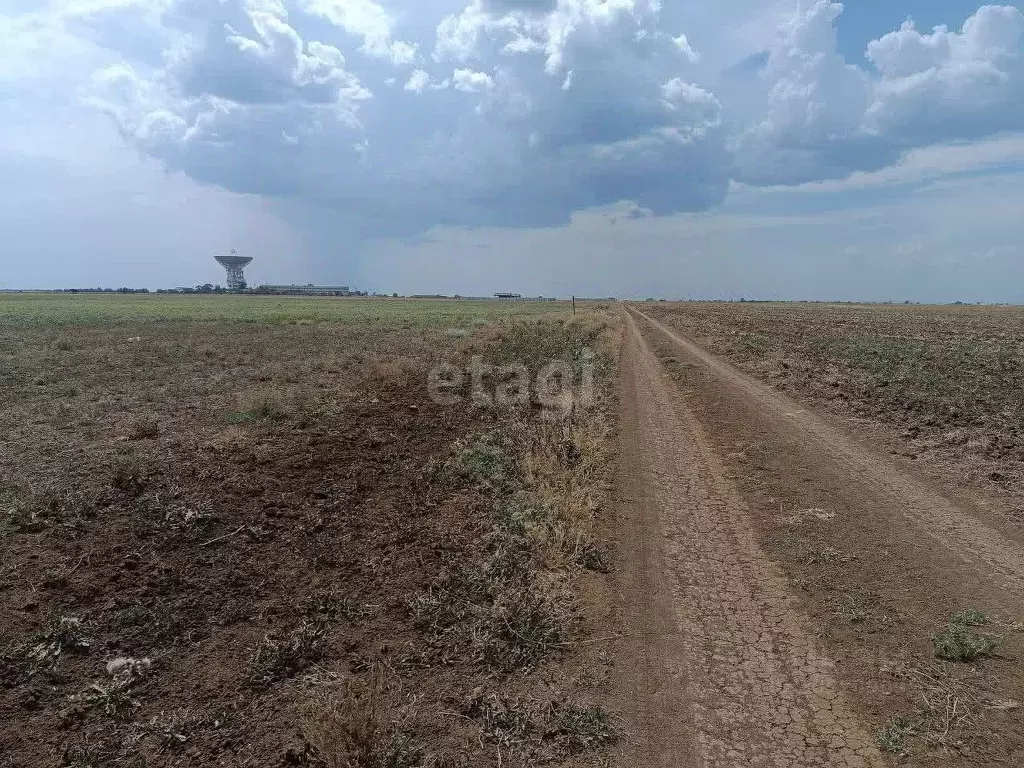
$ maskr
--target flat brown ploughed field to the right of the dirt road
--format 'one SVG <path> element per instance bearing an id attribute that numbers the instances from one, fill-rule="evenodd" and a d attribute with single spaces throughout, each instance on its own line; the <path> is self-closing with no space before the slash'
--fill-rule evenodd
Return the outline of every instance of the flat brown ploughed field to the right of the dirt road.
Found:
<path id="1" fill-rule="evenodd" d="M 1024 308 L 638 306 L 780 389 L 898 427 L 909 456 L 1024 492 Z"/>

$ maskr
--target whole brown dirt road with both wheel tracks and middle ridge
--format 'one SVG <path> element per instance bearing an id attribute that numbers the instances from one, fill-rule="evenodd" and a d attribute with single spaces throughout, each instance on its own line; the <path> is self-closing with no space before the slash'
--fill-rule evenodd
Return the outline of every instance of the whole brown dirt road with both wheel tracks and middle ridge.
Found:
<path id="1" fill-rule="evenodd" d="M 880 669 L 930 657 L 930 628 L 965 601 L 1019 608 L 1024 548 L 884 454 L 635 309 L 626 314 L 618 655 L 636 762 L 889 765 L 874 734 L 918 691 L 909 673 L 892 680 Z M 654 342 L 699 374 L 692 386 L 670 376 Z M 735 451 L 753 440 L 775 453 L 756 482 Z M 828 595 L 795 594 L 768 552 L 773 532 L 801 520 L 780 509 L 820 513 L 814 532 L 837 553 Z M 837 591 L 869 593 L 895 618 L 866 641 L 822 643 L 831 620 L 816 612 L 831 615 Z M 997 682 L 1011 693 L 1022 686 L 1016 673 Z M 1011 736 L 970 758 L 947 751 L 938 764 L 1014 765 L 1017 749 Z"/>

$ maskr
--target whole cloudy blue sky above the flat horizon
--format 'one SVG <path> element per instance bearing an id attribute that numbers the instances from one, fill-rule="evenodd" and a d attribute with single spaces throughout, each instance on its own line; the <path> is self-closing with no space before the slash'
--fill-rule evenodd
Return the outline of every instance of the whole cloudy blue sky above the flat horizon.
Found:
<path id="1" fill-rule="evenodd" d="M 0 288 L 1024 302 L 1024 13 L 0 0 Z"/>

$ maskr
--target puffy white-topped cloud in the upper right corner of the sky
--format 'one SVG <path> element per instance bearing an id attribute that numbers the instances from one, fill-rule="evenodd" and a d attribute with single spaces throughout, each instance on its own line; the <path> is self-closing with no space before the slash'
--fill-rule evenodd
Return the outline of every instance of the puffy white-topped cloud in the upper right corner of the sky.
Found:
<path id="1" fill-rule="evenodd" d="M 844 178 L 907 150 L 1024 128 L 1024 14 L 982 6 L 961 33 L 912 22 L 867 44 L 876 72 L 836 46 L 843 6 L 817 0 L 781 25 L 764 68 L 762 116 L 735 141 L 738 180 Z M 749 108 L 748 108 L 749 109 Z"/>

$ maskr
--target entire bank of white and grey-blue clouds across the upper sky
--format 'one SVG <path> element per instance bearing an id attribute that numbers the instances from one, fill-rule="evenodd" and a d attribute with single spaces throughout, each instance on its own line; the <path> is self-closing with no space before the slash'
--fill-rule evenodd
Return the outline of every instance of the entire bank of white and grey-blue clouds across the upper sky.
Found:
<path id="1" fill-rule="evenodd" d="M 31 92 L 44 70 L 57 82 L 41 52 L 66 55 L 65 97 L 167 169 L 314 202 L 373 236 L 555 225 L 621 201 L 701 211 L 730 188 L 856 180 L 921 147 L 1024 129 L 1024 16 L 1011 6 L 983 6 L 958 32 L 904 25 L 851 62 L 829 0 L 702 13 L 658 0 L 440 5 L 90 0 L 0 13 L 13 51 L 0 89 Z M 752 20 L 737 28 L 737 13 Z"/>

